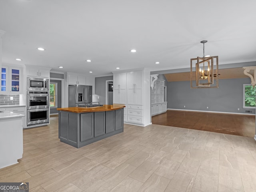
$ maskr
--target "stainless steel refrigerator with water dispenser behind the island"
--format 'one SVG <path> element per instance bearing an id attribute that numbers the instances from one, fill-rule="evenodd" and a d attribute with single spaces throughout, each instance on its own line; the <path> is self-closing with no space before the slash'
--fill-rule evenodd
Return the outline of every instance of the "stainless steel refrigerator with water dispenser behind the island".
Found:
<path id="1" fill-rule="evenodd" d="M 75 107 L 78 104 L 92 103 L 92 86 L 69 85 L 68 86 L 68 107 Z"/>

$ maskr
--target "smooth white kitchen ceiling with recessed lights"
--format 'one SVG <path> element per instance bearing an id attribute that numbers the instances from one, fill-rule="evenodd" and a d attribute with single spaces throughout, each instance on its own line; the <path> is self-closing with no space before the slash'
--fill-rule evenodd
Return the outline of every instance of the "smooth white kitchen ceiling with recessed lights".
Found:
<path id="1" fill-rule="evenodd" d="M 201 40 L 219 64 L 256 61 L 255 8 L 256 0 L 0 0 L 2 62 L 94 76 L 188 68 L 203 55 Z"/>

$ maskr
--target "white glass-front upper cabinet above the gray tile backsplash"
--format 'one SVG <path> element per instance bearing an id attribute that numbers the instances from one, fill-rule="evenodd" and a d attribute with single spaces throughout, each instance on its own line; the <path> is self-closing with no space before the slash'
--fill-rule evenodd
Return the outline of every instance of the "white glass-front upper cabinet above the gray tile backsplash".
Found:
<path id="1" fill-rule="evenodd" d="M 1 91 L 0 93 L 20 92 L 21 68 L 2 66 L 1 69 Z"/>

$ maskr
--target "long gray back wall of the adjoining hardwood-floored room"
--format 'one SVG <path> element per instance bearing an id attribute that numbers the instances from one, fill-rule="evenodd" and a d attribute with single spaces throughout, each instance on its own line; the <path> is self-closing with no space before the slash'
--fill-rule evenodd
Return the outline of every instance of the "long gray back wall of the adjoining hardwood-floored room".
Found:
<path id="1" fill-rule="evenodd" d="M 243 108 L 243 84 L 250 83 L 250 78 L 220 79 L 219 88 L 191 89 L 190 81 L 168 82 L 167 108 L 234 113 L 252 110 L 255 113 L 255 109 Z"/>

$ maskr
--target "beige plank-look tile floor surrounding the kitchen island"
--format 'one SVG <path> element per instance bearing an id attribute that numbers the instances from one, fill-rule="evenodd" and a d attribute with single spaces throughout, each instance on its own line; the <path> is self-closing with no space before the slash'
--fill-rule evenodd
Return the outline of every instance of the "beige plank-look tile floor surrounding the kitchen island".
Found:
<path id="1" fill-rule="evenodd" d="M 19 164 L 0 182 L 29 182 L 30 192 L 253 192 L 253 138 L 186 128 L 124 124 L 124 132 L 82 148 L 51 125 L 24 130 Z"/>

